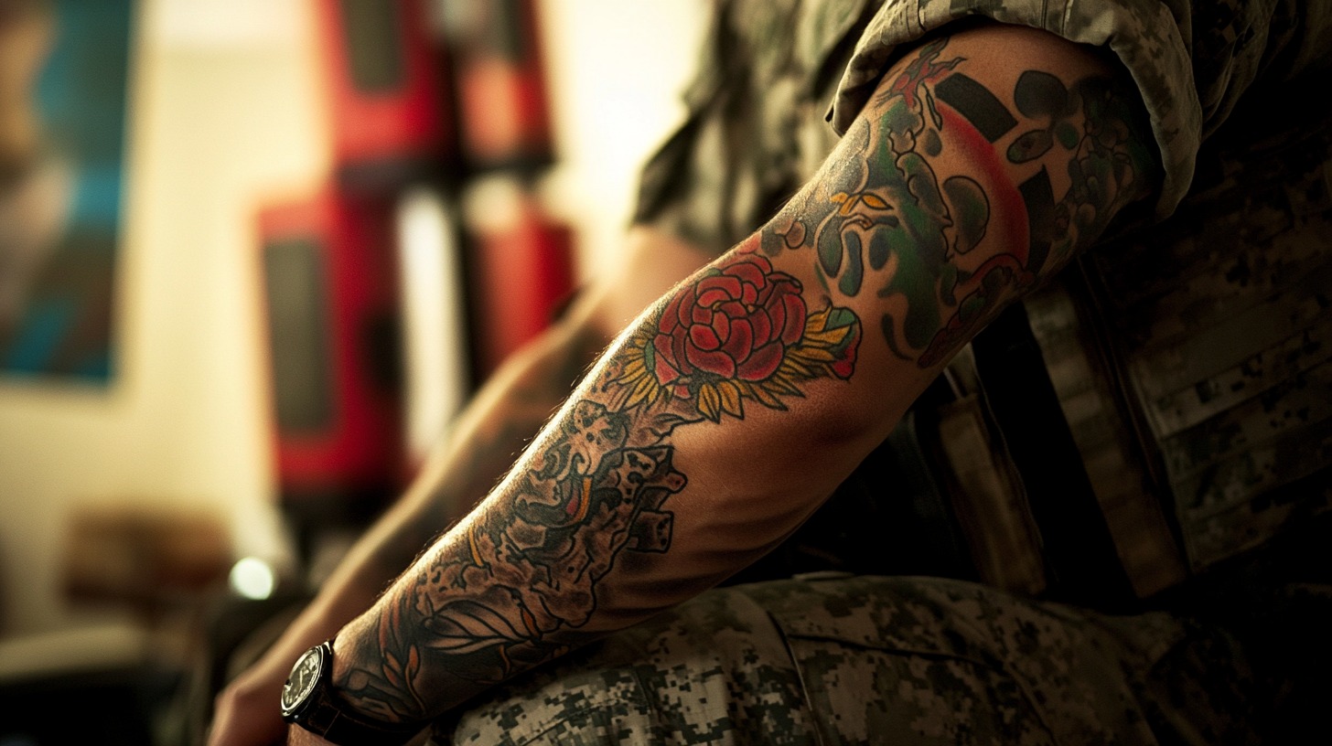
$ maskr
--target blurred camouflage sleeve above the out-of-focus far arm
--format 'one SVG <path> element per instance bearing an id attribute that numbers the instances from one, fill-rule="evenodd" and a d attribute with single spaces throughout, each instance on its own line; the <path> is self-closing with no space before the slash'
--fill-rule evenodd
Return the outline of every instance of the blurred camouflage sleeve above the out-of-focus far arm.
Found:
<path id="1" fill-rule="evenodd" d="M 634 222 L 714 254 L 781 209 L 838 143 L 819 116 L 868 0 L 715 0 L 679 128 L 642 169 Z"/>

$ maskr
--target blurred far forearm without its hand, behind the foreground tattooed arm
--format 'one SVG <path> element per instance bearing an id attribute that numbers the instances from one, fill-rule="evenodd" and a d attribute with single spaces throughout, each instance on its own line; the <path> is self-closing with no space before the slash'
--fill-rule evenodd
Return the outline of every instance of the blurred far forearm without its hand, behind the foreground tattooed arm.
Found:
<path id="1" fill-rule="evenodd" d="M 645 228 L 626 236 L 623 256 L 623 265 L 597 277 L 472 398 L 412 488 L 322 585 L 316 610 L 336 617 L 337 626 L 364 611 L 500 482 L 611 337 L 703 262 L 697 248 Z M 288 663 L 302 650 L 292 650 Z"/>

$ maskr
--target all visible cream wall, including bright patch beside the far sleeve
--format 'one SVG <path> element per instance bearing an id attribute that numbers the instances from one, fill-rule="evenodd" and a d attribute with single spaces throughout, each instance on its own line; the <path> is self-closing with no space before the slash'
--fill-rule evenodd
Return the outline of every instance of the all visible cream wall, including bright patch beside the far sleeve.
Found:
<path id="1" fill-rule="evenodd" d="M 634 173 L 679 117 L 705 0 L 542 0 L 581 266 L 613 256 Z M 281 560 L 261 409 L 252 213 L 314 185 L 326 131 L 301 0 L 145 0 L 133 75 L 115 382 L 0 380 L 0 630 L 85 623 L 57 579 L 83 502 L 214 512 Z M 646 64 L 643 61 L 647 61 Z"/>

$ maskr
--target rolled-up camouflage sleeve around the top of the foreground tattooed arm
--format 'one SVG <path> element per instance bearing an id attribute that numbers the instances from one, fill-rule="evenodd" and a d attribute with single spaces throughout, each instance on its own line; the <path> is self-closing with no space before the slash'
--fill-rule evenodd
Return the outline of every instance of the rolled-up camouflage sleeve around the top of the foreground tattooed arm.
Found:
<path id="1" fill-rule="evenodd" d="M 1156 213 L 1166 217 L 1188 190 L 1200 143 L 1256 77 L 1275 5 L 1277 0 L 886 1 L 860 36 L 827 116 L 846 132 L 898 55 L 963 19 L 1107 47 L 1146 104 L 1164 167 Z"/>

